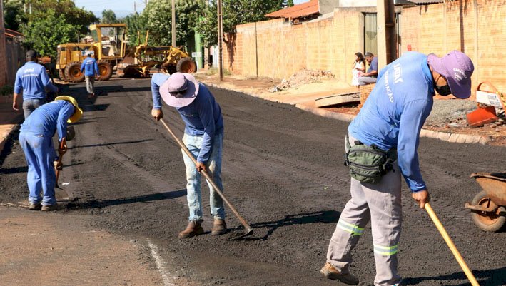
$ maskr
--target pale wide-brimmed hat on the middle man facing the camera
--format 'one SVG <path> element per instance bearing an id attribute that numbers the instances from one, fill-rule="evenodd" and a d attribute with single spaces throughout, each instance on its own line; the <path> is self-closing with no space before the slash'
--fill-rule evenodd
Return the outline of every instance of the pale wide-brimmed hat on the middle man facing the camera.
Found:
<path id="1" fill-rule="evenodd" d="M 197 97 L 198 81 L 190 73 L 173 73 L 160 86 L 160 95 L 169 106 L 184 107 Z"/>

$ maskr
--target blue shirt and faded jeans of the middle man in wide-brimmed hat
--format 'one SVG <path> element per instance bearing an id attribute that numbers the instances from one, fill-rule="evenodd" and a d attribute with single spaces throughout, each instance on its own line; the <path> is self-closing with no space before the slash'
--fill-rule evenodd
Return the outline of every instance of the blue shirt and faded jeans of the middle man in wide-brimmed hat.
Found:
<path id="1" fill-rule="evenodd" d="M 169 78 L 168 74 L 155 73 L 151 78 L 151 93 L 153 95 L 153 109 L 161 109 L 160 86 Z M 189 83 L 193 84 L 193 83 Z M 221 157 L 223 153 L 223 116 L 221 108 L 213 94 L 206 86 L 199 83 L 196 98 L 188 106 L 176 108 L 185 123 L 183 143 L 193 158 L 205 163 L 208 174 L 214 183 L 223 191 L 221 181 Z M 189 221 L 203 220 L 201 174 L 188 155 L 183 153 L 186 166 L 186 200 L 190 215 Z M 223 199 L 214 191 L 208 182 L 209 205 L 213 218 L 225 219 Z"/>

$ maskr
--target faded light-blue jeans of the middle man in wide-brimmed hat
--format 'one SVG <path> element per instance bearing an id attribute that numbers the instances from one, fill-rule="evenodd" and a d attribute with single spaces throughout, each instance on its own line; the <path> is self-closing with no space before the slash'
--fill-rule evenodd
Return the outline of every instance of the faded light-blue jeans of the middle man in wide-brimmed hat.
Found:
<path id="1" fill-rule="evenodd" d="M 186 145 L 193 158 L 197 158 L 201 150 L 203 136 L 191 136 L 185 133 L 183 143 Z M 186 200 L 190 209 L 188 220 L 203 220 L 202 211 L 202 193 L 201 193 L 201 174 L 197 172 L 197 168 L 191 158 L 183 153 L 183 160 L 186 166 Z M 206 170 L 213 178 L 214 183 L 223 191 L 221 183 L 221 155 L 223 153 L 223 133 L 214 136 L 211 155 L 206 163 Z M 211 215 L 214 218 L 225 219 L 225 208 L 223 208 L 223 199 L 218 195 L 213 186 L 208 182 L 209 186 L 209 204 L 211 205 Z"/>

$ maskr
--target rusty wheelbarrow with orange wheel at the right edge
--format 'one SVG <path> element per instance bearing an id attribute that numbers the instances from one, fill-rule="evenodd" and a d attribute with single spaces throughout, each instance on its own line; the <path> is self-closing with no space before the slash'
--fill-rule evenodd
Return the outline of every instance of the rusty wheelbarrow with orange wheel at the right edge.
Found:
<path id="1" fill-rule="evenodd" d="M 506 173 L 472 173 L 471 178 L 483 189 L 472 203 L 465 203 L 472 221 L 485 231 L 500 230 L 506 222 Z"/>

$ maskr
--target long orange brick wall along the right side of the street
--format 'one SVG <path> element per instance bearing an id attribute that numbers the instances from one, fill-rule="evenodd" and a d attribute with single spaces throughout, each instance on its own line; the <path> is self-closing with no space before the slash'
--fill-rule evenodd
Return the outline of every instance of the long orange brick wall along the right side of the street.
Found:
<path id="1" fill-rule="evenodd" d="M 403 9 L 401 52 L 408 51 L 408 45 L 412 51 L 439 56 L 453 49 L 463 51 L 475 63 L 473 88 L 489 80 L 506 93 L 502 63 L 506 56 L 506 1 L 477 3 L 478 41 L 472 0 Z M 224 49 L 224 66 L 244 76 L 258 73 L 271 78 L 289 78 L 301 68 L 322 69 L 348 82 L 353 54 L 363 51 L 363 21 L 358 10 L 336 9 L 333 18 L 301 25 L 290 25 L 283 19 L 239 25 L 235 44 Z"/>

